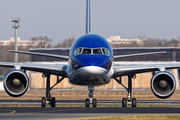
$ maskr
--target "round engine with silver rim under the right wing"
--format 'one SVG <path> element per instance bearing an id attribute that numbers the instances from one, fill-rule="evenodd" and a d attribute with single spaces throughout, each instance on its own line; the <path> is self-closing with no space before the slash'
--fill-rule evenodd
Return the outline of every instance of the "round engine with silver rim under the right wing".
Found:
<path id="1" fill-rule="evenodd" d="M 167 71 L 157 72 L 151 79 L 151 90 L 158 98 L 170 97 L 176 89 L 174 76 Z"/>

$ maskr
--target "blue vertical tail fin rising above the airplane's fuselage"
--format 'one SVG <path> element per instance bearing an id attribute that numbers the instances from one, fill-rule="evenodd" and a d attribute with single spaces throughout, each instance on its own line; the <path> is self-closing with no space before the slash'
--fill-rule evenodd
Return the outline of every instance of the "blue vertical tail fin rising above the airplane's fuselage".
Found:
<path id="1" fill-rule="evenodd" d="M 86 34 L 91 33 L 90 0 L 86 0 Z"/>

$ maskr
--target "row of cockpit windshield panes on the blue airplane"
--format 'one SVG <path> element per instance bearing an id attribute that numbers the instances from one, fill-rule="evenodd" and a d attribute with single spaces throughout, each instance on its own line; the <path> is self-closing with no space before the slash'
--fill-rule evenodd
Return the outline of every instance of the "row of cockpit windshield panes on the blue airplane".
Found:
<path id="1" fill-rule="evenodd" d="M 86 55 L 110 55 L 110 52 L 107 48 L 77 48 L 74 51 L 74 55 L 80 55 L 80 54 L 86 54 Z"/>

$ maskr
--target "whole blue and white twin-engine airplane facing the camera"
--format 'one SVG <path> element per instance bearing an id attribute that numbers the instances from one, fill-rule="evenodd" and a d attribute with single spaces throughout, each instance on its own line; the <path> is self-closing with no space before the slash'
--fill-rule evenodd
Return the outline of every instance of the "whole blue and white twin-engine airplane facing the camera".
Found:
<path id="1" fill-rule="evenodd" d="M 41 72 L 42 77 L 46 77 L 46 97 L 42 97 L 41 107 L 56 106 L 55 97 L 51 97 L 50 91 L 64 78 L 68 78 L 71 84 L 88 87 L 89 98 L 85 100 L 85 107 L 90 107 L 90 105 L 97 107 L 97 100 L 93 93 L 94 87 L 105 85 L 112 78 L 127 90 L 127 98 L 122 99 L 122 107 L 128 105 L 136 107 L 136 98 L 132 98 L 132 79 L 136 74 L 145 72 L 153 73 L 150 86 L 154 95 L 166 99 L 174 93 L 176 88 L 174 76 L 166 70 L 180 68 L 180 64 L 177 63 L 115 66 L 113 60 L 117 58 L 163 54 L 166 51 L 114 56 L 110 43 L 104 37 L 91 33 L 90 0 L 86 0 L 86 34 L 73 43 L 69 56 L 15 50 L 9 50 L 9 52 L 68 61 L 68 65 L 0 62 L 1 67 L 14 68 L 5 75 L 3 85 L 7 94 L 12 97 L 20 97 L 26 93 L 29 86 L 26 70 Z M 50 86 L 51 75 L 57 76 L 57 82 L 53 86 Z M 121 82 L 122 76 L 128 76 L 127 87 Z"/>

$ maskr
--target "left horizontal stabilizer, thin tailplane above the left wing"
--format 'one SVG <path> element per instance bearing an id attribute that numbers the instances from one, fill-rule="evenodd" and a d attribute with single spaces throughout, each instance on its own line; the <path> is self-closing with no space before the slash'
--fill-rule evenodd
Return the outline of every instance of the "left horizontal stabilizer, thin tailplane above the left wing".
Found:
<path id="1" fill-rule="evenodd" d="M 31 55 L 39 55 L 39 56 L 46 56 L 46 57 L 53 57 L 53 58 L 59 58 L 59 59 L 64 59 L 64 60 L 68 60 L 69 59 L 69 56 L 55 55 L 55 54 L 36 53 L 36 52 L 27 52 L 27 51 L 15 51 L 15 50 L 9 50 L 9 52 L 22 53 L 22 54 L 31 54 Z"/>

